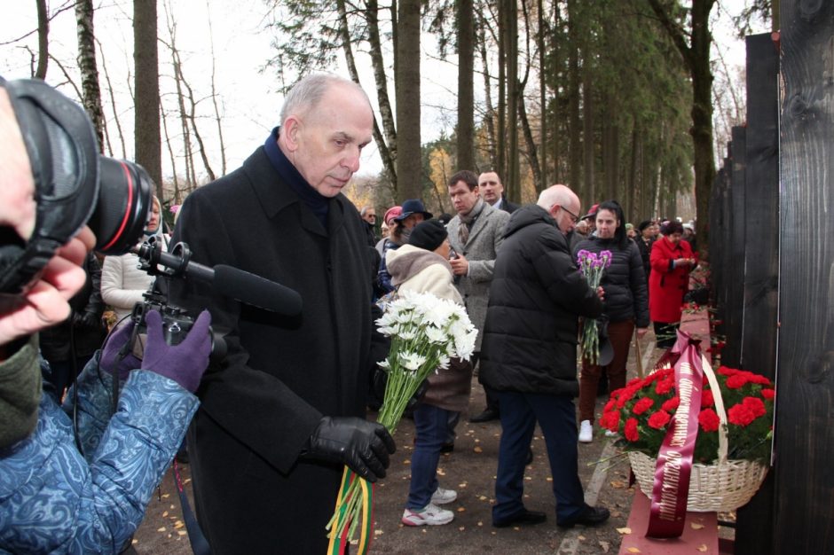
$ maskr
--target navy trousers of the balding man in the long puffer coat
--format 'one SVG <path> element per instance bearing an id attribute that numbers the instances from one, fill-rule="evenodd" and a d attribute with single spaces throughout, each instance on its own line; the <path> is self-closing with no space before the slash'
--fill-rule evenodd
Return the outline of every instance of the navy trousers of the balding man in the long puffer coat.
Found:
<path id="1" fill-rule="evenodd" d="M 547 445 L 556 520 L 570 519 L 585 507 L 578 475 L 576 407 L 570 397 L 498 392 L 501 403 L 501 441 L 492 520 L 512 519 L 524 510 L 524 463 L 536 421 Z"/>

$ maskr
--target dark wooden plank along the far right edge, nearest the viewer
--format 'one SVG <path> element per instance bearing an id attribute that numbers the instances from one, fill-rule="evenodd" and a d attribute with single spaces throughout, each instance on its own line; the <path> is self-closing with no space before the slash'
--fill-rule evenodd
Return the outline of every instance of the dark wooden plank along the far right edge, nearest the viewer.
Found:
<path id="1" fill-rule="evenodd" d="M 834 3 L 784 0 L 781 13 L 775 552 L 830 553 L 834 545 Z"/>

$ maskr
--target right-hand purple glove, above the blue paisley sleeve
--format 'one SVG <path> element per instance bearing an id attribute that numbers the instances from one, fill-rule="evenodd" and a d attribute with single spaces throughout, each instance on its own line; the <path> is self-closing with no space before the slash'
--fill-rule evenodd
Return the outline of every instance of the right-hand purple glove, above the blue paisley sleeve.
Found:
<path id="1" fill-rule="evenodd" d="M 142 370 L 156 372 L 173 379 L 190 392 L 197 391 L 202 373 L 209 366 L 211 315 L 203 310 L 194 322 L 185 340 L 179 345 L 169 345 L 162 336 L 162 317 L 158 310 L 145 315 L 147 344 Z"/>

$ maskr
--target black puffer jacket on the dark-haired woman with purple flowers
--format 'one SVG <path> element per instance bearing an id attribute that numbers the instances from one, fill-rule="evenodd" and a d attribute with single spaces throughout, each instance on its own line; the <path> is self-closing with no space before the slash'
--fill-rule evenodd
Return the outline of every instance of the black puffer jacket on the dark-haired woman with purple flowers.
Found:
<path id="1" fill-rule="evenodd" d="M 649 289 L 637 244 L 626 239 L 625 248 L 620 248 L 614 239 L 586 238 L 578 242 L 574 260 L 583 249 L 594 254 L 610 251 L 612 255 L 611 265 L 602 273 L 600 282 L 605 290 L 602 313 L 610 322 L 633 319 L 637 327 L 649 327 Z"/>

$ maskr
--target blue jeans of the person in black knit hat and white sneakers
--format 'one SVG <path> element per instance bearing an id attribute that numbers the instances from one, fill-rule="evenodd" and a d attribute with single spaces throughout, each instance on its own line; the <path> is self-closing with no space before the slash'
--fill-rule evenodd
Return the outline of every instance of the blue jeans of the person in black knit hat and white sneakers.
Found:
<path id="1" fill-rule="evenodd" d="M 411 457 L 411 487 L 405 507 L 419 511 L 437 490 L 440 447 L 449 430 L 449 410 L 420 403 L 414 409 L 414 452 Z"/>

